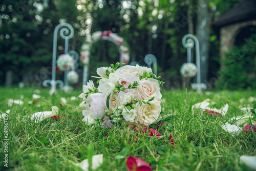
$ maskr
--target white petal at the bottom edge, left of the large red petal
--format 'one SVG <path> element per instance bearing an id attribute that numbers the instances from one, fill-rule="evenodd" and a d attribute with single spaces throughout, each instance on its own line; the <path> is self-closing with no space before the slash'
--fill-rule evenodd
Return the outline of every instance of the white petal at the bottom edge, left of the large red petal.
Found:
<path id="1" fill-rule="evenodd" d="M 103 163 L 103 154 L 95 155 L 92 158 L 92 169 L 95 170 L 100 164 Z M 83 160 L 81 163 L 74 163 L 76 166 L 81 167 L 82 170 L 88 171 L 88 159 Z"/>

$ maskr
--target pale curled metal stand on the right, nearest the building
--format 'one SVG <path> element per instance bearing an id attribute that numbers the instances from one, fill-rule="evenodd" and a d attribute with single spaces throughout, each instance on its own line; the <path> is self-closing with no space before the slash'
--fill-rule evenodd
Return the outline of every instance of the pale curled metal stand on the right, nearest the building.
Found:
<path id="1" fill-rule="evenodd" d="M 195 43 L 194 43 L 195 41 Z M 186 34 L 182 38 L 182 45 L 187 48 L 187 62 L 191 62 L 191 48 L 196 44 L 196 60 L 197 60 L 197 91 L 201 93 L 201 71 L 200 71 L 200 51 L 199 51 L 199 41 L 193 34 Z"/>

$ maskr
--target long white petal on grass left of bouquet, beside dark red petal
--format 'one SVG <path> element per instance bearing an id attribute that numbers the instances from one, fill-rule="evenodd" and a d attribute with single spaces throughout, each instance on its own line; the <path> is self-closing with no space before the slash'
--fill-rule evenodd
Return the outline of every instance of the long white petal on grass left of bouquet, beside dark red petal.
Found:
<path id="1" fill-rule="evenodd" d="M 37 122 L 40 122 L 46 118 L 50 118 L 54 115 L 58 115 L 59 109 L 57 106 L 52 106 L 52 111 L 45 111 L 45 112 L 36 112 L 31 116 L 31 120 Z"/>

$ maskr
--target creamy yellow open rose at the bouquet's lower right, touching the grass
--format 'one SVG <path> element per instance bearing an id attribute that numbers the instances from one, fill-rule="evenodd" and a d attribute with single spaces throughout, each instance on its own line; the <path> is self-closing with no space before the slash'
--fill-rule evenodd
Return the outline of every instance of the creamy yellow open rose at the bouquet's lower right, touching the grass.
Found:
<path id="1" fill-rule="evenodd" d="M 136 103 L 135 110 L 137 111 L 138 121 L 144 126 L 148 126 L 155 122 L 160 115 L 161 105 L 159 101 L 153 100 L 150 101 L 150 104 L 144 104 L 140 106 L 139 103 Z"/>

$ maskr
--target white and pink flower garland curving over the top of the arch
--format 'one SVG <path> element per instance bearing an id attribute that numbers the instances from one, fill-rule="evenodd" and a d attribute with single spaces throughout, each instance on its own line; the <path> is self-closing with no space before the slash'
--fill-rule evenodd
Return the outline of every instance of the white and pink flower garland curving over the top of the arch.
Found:
<path id="1" fill-rule="evenodd" d="M 83 65 L 88 65 L 89 58 L 90 58 L 90 49 L 92 48 L 92 45 L 97 42 L 98 40 L 109 40 L 114 42 L 117 46 L 119 46 L 120 51 L 120 60 L 124 63 L 129 63 L 130 55 L 129 55 L 129 49 L 123 45 L 123 38 L 118 36 L 116 33 L 112 33 L 111 31 L 97 31 L 92 34 L 92 37 L 87 39 L 86 42 L 82 45 L 82 51 L 80 56 L 80 61 L 83 63 Z"/>

